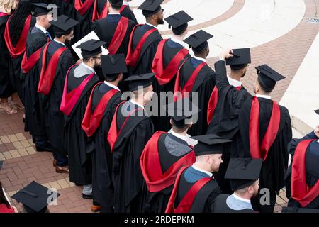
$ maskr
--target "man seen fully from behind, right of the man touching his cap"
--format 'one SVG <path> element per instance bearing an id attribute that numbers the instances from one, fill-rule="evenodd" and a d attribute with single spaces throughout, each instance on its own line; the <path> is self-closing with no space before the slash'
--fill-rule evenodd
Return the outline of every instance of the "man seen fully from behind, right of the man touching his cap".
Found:
<path id="1" fill-rule="evenodd" d="M 262 158 L 260 189 L 267 188 L 270 204 L 262 205 L 260 197 L 252 199 L 254 210 L 274 211 L 276 194 L 284 187 L 284 176 L 288 167 L 288 143 L 292 138 L 289 111 L 272 100 L 270 93 L 276 82 L 284 79 L 268 65 L 256 67 L 257 79 L 254 85 L 255 96 L 249 96 L 238 114 L 240 139 L 243 149 L 237 150 L 237 157 Z"/>

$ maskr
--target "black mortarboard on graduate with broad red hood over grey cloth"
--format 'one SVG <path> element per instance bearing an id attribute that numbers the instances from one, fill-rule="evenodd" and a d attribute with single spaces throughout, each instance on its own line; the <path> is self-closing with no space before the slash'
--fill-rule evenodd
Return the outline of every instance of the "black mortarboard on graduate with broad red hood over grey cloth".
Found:
<path id="1" fill-rule="evenodd" d="M 183 127 L 187 123 L 185 122 L 186 119 L 191 119 L 192 116 L 198 114 L 201 110 L 190 99 L 186 98 L 168 104 L 166 111 L 178 127 Z"/>

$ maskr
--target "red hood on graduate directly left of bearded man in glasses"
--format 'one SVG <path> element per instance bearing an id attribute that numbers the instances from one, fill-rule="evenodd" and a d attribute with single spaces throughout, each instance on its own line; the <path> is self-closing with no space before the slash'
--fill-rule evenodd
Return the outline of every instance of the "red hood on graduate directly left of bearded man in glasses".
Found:
<path id="1" fill-rule="evenodd" d="M 47 43 L 43 48 L 42 53 L 42 69 L 40 73 L 40 80 L 38 85 L 38 92 L 47 95 L 51 91 L 51 87 L 53 84 L 53 80 L 55 79 L 55 71 L 57 70 L 57 62 L 59 62 L 60 56 L 62 52 L 65 52 L 67 48 L 59 48 L 52 55 L 50 62 L 45 65 L 47 59 L 47 48 L 49 47 L 51 42 Z"/>

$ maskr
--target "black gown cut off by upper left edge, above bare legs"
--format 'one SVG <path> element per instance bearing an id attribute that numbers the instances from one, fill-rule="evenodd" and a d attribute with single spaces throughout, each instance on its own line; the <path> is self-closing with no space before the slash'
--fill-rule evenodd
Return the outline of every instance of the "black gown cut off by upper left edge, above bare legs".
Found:
<path id="1" fill-rule="evenodd" d="M 4 30 L 8 18 L 8 15 L 0 13 L 0 99 L 8 98 L 15 92 L 10 82 L 9 50 L 6 47 L 6 42 L 4 40 Z"/>

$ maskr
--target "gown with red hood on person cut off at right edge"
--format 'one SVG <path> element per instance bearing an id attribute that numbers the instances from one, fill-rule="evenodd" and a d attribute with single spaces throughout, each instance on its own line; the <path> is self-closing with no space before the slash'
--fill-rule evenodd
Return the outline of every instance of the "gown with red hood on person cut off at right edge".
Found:
<path id="1" fill-rule="evenodd" d="M 294 155 L 296 153 L 296 148 L 301 145 L 301 142 L 304 141 L 304 143 L 307 141 L 305 140 L 311 140 L 308 141 L 308 144 L 306 144 L 303 148 L 303 150 L 298 150 L 298 152 L 302 152 L 306 149 L 306 161 L 303 162 L 301 158 L 298 158 L 298 160 L 294 159 Z M 310 196 L 310 199 L 306 201 L 306 203 L 301 204 L 301 202 L 296 201 L 296 198 L 293 199 L 291 196 L 291 179 L 292 179 L 292 171 L 296 172 L 298 170 L 293 169 L 293 161 L 296 162 L 296 167 L 298 165 L 303 168 L 303 171 L 306 170 L 306 179 L 303 182 L 296 181 L 296 187 L 298 187 L 298 184 L 301 187 L 306 187 L 308 190 L 306 192 L 310 192 L 310 189 L 315 187 L 315 184 L 318 184 L 319 179 L 319 171 L 318 171 L 318 165 L 319 165 L 319 143 L 317 142 L 318 137 L 315 135 L 314 132 L 309 133 L 305 137 L 301 139 L 293 139 L 288 145 L 289 148 L 289 154 L 291 155 L 291 165 L 289 166 L 289 169 L 286 172 L 285 177 L 285 186 L 286 186 L 286 196 L 289 198 L 289 207 L 303 207 L 308 209 L 319 209 L 319 190 L 317 190 L 317 196 Z M 304 165 L 302 165 L 304 163 Z M 302 170 L 302 169 L 301 169 Z M 297 172 L 298 173 L 298 172 Z M 306 183 L 306 184 L 305 184 Z M 318 186 L 317 186 L 318 187 Z M 314 188 L 315 189 L 315 188 Z M 306 194 L 308 194 L 306 193 Z M 303 198 L 306 194 L 301 194 L 296 192 L 295 193 L 300 199 Z M 299 195 L 300 194 L 300 195 Z"/>

